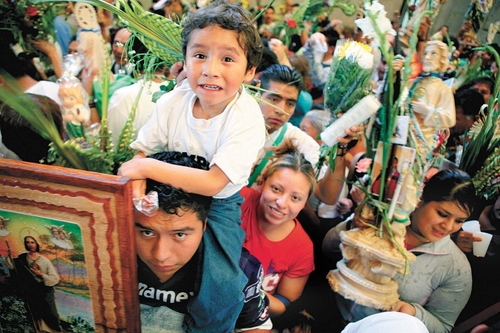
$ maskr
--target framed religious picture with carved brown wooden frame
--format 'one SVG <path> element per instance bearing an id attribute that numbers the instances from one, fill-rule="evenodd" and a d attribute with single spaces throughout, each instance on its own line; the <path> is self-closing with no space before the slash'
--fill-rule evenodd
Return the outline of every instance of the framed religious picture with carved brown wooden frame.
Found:
<path id="1" fill-rule="evenodd" d="M 0 159 L 0 331 L 140 332 L 128 178 Z"/>

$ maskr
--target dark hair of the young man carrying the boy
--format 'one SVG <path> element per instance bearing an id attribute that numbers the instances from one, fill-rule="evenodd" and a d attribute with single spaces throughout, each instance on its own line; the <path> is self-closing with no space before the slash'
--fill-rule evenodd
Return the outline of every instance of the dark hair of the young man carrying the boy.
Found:
<path id="1" fill-rule="evenodd" d="M 209 169 L 209 163 L 205 158 L 196 155 L 188 155 L 187 153 L 167 151 L 148 157 L 165 163 L 195 169 Z M 146 181 L 146 193 L 149 193 L 149 191 L 156 191 L 158 193 L 159 207 L 167 214 L 179 215 L 179 210 L 183 212 L 192 210 L 201 221 L 205 222 L 207 219 L 212 204 L 212 197 L 187 193 L 180 188 L 175 188 L 168 184 L 161 184 L 152 179 Z"/>

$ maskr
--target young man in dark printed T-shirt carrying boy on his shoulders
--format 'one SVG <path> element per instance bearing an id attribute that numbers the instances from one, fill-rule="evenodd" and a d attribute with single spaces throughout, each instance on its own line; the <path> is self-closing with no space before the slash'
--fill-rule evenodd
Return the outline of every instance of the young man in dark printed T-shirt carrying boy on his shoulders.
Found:
<path id="1" fill-rule="evenodd" d="M 203 159 L 179 155 L 167 152 L 154 158 L 181 160 L 176 163 L 184 166 L 203 166 Z M 208 167 L 208 163 L 204 165 Z M 196 286 L 201 276 L 209 273 L 203 268 L 201 244 L 212 198 L 150 180 L 147 184 L 148 191 L 157 192 L 159 207 L 152 216 L 137 210 L 134 213 L 142 331 L 184 332 L 182 322 L 198 292 Z M 262 265 L 245 249 L 239 264 L 248 283 L 242 289 L 245 305 L 237 313 L 236 328 L 270 332 L 269 300 L 261 288 Z"/>

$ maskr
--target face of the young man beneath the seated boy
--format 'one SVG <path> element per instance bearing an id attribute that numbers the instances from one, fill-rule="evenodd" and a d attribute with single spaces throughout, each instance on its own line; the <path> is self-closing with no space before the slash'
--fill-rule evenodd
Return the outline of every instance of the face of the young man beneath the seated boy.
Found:
<path id="1" fill-rule="evenodd" d="M 161 209 L 151 217 L 134 212 L 137 255 L 165 282 L 196 253 L 205 224 L 191 211 L 180 215 Z"/>

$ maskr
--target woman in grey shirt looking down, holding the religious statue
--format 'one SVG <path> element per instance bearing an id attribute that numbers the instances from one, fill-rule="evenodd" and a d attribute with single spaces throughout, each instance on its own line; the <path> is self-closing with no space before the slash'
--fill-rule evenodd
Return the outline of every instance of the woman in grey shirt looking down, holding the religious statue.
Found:
<path id="1" fill-rule="evenodd" d="M 394 277 L 400 301 L 393 310 L 422 320 L 430 332 L 450 332 L 469 298 L 471 269 L 450 234 L 461 228 L 475 201 L 474 186 L 467 173 L 442 170 L 427 182 L 421 201 L 410 216 L 404 245 L 416 255 L 416 260 L 406 274 Z M 339 224 L 327 234 L 323 249 L 334 244 L 334 234 L 345 229 L 346 224 Z M 340 295 L 336 297 L 346 321 L 380 312 Z"/>

